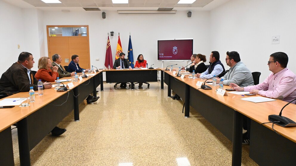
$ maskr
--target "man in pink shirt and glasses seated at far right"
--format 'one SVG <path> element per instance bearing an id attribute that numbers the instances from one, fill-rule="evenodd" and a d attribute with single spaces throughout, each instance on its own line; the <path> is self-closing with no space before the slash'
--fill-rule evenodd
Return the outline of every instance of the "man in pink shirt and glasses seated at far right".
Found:
<path id="1" fill-rule="evenodd" d="M 248 91 L 268 98 L 280 99 L 290 102 L 296 98 L 296 75 L 287 68 L 288 55 L 283 52 L 276 52 L 270 55 L 267 65 L 272 72 L 264 82 L 247 87 L 239 87 L 230 83 L 230 86 L 237 91 Z M 295 104 L 295 101 L 293 102 Z M 245 118 L 243 126 L 247 132 L 243 134 L 243 144 L 249 144 L 251 133 L 251 120 Z"/>

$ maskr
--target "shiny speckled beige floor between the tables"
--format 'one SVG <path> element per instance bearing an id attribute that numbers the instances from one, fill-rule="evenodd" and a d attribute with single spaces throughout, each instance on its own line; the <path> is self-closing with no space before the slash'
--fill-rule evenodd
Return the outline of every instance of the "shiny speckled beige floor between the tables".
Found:
<path id="1" fill-rule="evenodd" d="M 231 165 L 232 143 L 193 108 L 182 114 L 183 102 L 168 98 L 167 86 L 104 91 L 94 104 L 82 103 L 80 121 L 70 113 L 32 151 L 32 165 L 187 166 Z M 99 89 L 99 87 L 98 87 Z M 15 164 L 19 165 L 17 131 L 13 129 Z M 243 145 L 242 165 L 257 165 Z"/>

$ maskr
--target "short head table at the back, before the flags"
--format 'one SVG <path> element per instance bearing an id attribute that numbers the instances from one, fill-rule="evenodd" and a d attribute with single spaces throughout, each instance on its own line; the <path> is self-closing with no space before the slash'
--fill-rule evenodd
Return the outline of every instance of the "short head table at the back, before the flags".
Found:
<path id="1" fill-rule="evenodd" d="M 158 71 L 161 72 L 161 89 L 164 89 L 164 71 L 158 69 L 110 69 L 102 70 L 106 73 L 107 83 L 130 82 L 131 89 L 135 88 L 134 82 L 157 82 Z M 101 75 L 103 78 L 103 74 Z M 103 90 L 103 79 L 101 79 L 101 90 Z"/>

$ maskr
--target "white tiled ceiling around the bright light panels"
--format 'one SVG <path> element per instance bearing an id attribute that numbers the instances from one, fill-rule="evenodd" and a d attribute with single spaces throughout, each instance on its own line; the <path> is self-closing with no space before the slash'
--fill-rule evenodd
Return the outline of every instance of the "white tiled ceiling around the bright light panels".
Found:
<path id="1" fill-rule="evenodd" d="M 44 3 L 41 0 L 3 0 L 21 8 L 40 10 L 83 10 L 82 7 L 99 7 L 101 10 L 212 10 L 229 0 L 196 0 L 192 4 L 177 4 L 179 0 L 129 0 L 128 4 L 113 4 L 112 0 L 59 0 L 62 3 Z"/>

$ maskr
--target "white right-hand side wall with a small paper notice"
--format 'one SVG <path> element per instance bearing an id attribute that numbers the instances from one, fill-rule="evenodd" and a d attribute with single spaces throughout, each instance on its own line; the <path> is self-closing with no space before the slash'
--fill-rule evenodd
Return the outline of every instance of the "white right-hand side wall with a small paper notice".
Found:
<path id="1" fill-rule="evenodd" d="M 260 82 L 270 73 L 267 61 L 274 52 L 288 54 L 288 68 L 296 73 L 295 6 L 294 0 L 232 0 L 223 4 L 210 12 L 210 49 L 220 52 L 224 65 L 226 51 L 238 51 L 252 72 L 261 72 Z M 280 36 L 280 44 L 272 44 L 272 36 Z"/>

